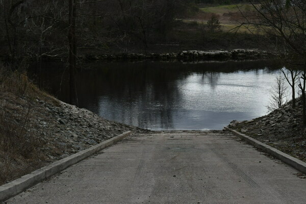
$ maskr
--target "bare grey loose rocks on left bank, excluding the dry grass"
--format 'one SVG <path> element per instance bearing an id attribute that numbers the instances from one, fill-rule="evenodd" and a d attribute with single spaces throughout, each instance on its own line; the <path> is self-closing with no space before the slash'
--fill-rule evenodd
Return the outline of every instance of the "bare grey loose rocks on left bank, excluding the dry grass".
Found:
<path id="1" fill-rule="evenodd" d="M 61 151 L 51 159 L 61 159 L 75 152 L 96 145 L 104 140 L 120 135 L 126 131 L 135 133 L 146 130 L 138 127 L 106 120 L 86 109 L 79 109 L 62 101 L 59 106 L 53 106 L 43 100 L 37 101 L 37 111 L 41 116 L 34 117 L 31 123 L 37 127 L 32 132 L 44 130 L 42 137 L 49 145 L 57 146 Z M 38 133 L 36 133 L 38 134 Z"/>

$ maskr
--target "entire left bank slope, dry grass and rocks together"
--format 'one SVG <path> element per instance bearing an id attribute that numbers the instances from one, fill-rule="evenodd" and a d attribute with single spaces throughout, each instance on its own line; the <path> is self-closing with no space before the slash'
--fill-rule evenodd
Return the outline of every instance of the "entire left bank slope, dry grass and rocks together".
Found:
<path id="1" fill-rule="evenodd" d="M 39 93 L 0 91 L 0 185 L 126 131 L 149 132 Z"/>

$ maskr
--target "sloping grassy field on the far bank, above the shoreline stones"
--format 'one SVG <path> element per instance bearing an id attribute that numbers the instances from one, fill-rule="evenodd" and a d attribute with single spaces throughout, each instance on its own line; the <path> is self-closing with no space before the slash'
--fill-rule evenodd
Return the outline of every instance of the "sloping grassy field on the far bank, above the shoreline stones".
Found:
<path id="1" fill-rule="evenodd" d="M 244 10 L 249 10 L 251 5 L 238 5 Z M 173 28 L 163 36 L 157 36 L 149 41 L 149 47 L 144 50 L 143 45 L 129 45 L 133 52 L 147 53 L 171 53 L 182 50 L 209 50 L 209 49 L 235 49 L 235 48 L 259 48 L 267 49 L 262 36 L 250 35 L 247 28 L 241 27 L 237 32 L 239 22 L 243 21 L 238 15 L 231 15 L 238 11 L 236 5 L 227 6 L 198 6 L 200 11 L 190 13 L 188 16 L 176 18 Z M 205 8 L 204 8 L 205 7 Z M 219 17 L 221 31 L 211 33 L 207 21 L 215 13 Z M 252 32 L 261 34 L 260 32 Z M 114 48 L 116 49 L 116 48 Z"/>

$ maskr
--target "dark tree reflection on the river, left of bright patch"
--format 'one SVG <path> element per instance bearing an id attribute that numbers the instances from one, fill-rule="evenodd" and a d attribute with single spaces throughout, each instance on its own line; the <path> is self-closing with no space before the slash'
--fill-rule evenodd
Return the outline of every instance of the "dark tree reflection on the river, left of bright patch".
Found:
<path id="1" fill-rule="evenodd" d="M 220 72 L 259 70 L 267 62 L 206 62 L 183 64 L 180 62 L 112 62 L 87 64 L 78 76 L 80 106 L 107 118 L 142 127 L 160 124 L 162 129 L 173 128 L 173 106 L 184 98 L 179 82 L 193 73 L 202 74 L 202 84 L 214 89 Z M 59 72 L 60 73 L 60 72 Z M 58 83 L 61 74 L 45 72 L 46 81 Z M 52 84 L 52 92 L 59 90 Z M 61 89 L 60 99 L 66 99 L 68 86 Z M 67 100 L 66 100 L 67 101 Z"/>

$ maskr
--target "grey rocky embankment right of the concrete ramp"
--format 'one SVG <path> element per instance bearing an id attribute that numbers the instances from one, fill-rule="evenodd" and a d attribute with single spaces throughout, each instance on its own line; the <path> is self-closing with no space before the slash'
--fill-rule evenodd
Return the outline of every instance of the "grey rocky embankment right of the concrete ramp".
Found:
<path id="1" fill-rule="evenodd" d="M 302 102 L 297 100 L 256 119 L 232 121 L 228 127 L 306 162 L 306 130 L 302 125 Z"/>

